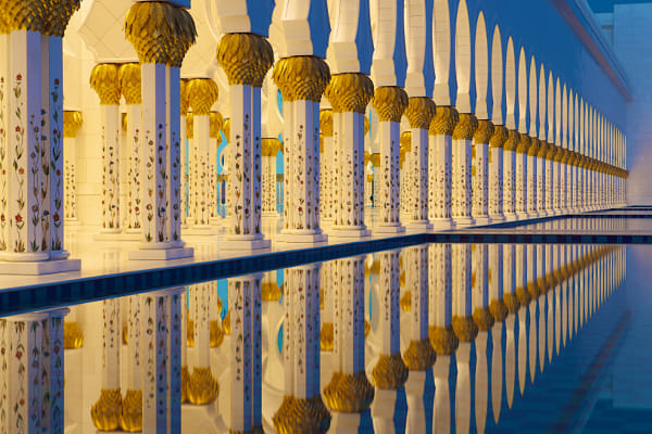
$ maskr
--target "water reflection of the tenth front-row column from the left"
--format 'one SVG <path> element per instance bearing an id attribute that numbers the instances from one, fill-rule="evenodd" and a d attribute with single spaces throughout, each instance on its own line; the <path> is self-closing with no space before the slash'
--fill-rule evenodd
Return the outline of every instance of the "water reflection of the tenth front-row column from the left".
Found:
<path id="1" fill-rule="evenodd" d="M 474 244 L 473 250 L 473 318 L 478 327 L 476 344 L 475 419 L 479 433 L 485 432 L 489 373 L 487 368 L 487 340 L 496 320 L 489 308 L 489 252 L 487 244 Z"/>

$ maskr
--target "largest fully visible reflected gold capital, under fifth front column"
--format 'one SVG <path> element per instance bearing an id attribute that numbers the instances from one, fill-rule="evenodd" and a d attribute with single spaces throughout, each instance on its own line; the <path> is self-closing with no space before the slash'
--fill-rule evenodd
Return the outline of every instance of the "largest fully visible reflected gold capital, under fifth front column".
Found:
<path id="1" fill-rule="evenodd" d="M 358 373 L 334 372 L 324 388 L 324 400 L 328 408 L 346 413 L 361 413 L 374 400 L 374 386 L 364 370 Z"/>

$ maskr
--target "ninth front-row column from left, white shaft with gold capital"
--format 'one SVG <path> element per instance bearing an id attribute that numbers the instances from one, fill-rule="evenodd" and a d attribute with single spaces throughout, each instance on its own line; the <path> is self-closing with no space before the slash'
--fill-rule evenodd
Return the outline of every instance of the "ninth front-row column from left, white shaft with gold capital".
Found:
<path id="1" fill-rule="evenodd" d="M 472 140 L 478 128 L 473 114 L 460 114 L 460 122 L 453 131 L 452 143 L 452 217 L 457 227 L 475 224 L 471 215 L 472 191 Z"/>

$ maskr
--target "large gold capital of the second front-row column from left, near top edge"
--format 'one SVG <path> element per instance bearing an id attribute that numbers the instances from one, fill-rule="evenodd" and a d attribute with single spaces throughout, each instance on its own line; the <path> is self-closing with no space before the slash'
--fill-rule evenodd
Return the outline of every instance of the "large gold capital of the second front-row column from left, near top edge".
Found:
<path id="1" fill-rule="evenodd" d="M 163 1 L 138 1 L 125 18 L 125 37 L 136 49 L 140 63 L 181 67 L 197 29 L 184 8 Z"/>

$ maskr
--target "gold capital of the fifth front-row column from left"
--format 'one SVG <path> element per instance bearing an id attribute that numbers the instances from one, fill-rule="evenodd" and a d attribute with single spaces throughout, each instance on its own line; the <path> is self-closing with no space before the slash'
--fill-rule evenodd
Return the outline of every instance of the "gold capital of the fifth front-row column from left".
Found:
<path id="1" fill-rule="evenodd" d="M 374 84 L 362 73 L 336 74 L 330 78 L 325 94 L 335 113 L 364 114 L 374 97 Z"/>

